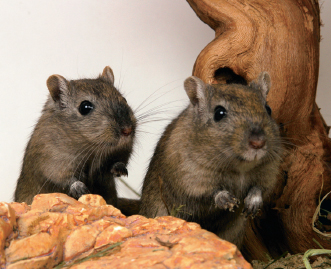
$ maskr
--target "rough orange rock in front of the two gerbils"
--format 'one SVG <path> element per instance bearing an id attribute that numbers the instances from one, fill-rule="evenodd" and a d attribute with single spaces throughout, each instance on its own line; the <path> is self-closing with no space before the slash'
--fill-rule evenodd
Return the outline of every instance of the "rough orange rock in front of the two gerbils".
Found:
<path id="1" fill-rule="evenodd" d="M 236 246 L 171 216 L 125 217 L 98 195 L 0 203 L 0 268 L 251 268 Z"/>

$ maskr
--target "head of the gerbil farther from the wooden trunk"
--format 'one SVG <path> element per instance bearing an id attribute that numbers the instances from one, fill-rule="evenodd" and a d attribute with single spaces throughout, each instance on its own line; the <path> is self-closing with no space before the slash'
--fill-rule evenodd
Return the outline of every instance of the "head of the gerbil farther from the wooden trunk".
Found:
<path id="1" fill-rule="evenodd" d="M 72 141 L 132 147 L 136 119 L 126 99 L 114 87 L 106 66 L 96 79 L 68 81 L 60 75 L 47 79 L 50 97 L 45 113 L 56 119 Z"/>

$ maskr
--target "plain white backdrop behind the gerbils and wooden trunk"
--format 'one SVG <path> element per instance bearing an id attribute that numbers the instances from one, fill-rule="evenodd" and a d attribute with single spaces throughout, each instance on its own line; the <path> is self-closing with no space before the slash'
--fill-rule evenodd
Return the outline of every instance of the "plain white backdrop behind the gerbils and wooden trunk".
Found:
<path id="1" fill-rule="evenodd" d="M 328 124 L 330 14 L 326 0 L 317 104 Z M 145 111 L 161 104 L 168 109 L 158 114 L 163 121 L 142 125 L 137 136 L 127 182 L 140 191 L 167 119 L 188 103 L 183 81 L 213 37 L 184 0 L 0 0 L 0 201 L 12 201 L 26 143 L 48 94 L 47 78 L 93 78 L 106 65 L 133 108 L 155 93 L 159 99 L 150 97 Z M 119 194 L 136 197 L 121 184 Z"/>

